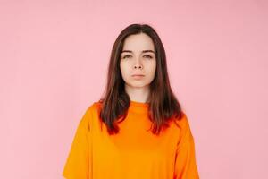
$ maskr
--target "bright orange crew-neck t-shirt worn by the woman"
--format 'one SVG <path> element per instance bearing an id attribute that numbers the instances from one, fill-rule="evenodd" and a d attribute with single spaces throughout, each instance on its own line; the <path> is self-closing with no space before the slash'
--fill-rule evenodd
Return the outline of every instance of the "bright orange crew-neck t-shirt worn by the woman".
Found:
<path id="1" fill-rule="evenodd" d="M 148 130 L 148 103 L 130 101 L 128 115 L 109 135 L 98 117 L 101 103 L 80 120 L 63 169 L 67 179 L 198 179 L 194 138 L 183 113 L 159 136 Z"/>

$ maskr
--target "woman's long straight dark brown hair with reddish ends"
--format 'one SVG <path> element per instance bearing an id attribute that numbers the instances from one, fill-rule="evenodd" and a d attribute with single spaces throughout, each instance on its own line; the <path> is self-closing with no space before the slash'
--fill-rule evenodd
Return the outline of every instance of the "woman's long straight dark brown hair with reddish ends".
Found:
<path id="1" fill-rule="evenodd" d="M 148 24 L 130 24 L 121 31 L 113 44 L 105 93 L 99 100 L 102 103 L 99 116 L 110 134 L 119 132 L 119 127 L 116 123 L 125 119 L 130 106 L 130 97 L 124 90 L 124 81 L 120 70 L 123 42 L 128 36 L 139 33 L 146 33 L 152 38 L 155 45 L 155 79 L 150 83 L 150 94 L 147 101 L 149 103 L 148 117 L 153 124 L 152 132 L 159 134 L 163 128 L 169 126 L 168 122 L 170 120 L 180 120 L 182 115 L 180 103 L 174 96 L 170 85 L 166 55 L 161 39 Z M 121 121 L 119 121 L 120 118 Z"/>

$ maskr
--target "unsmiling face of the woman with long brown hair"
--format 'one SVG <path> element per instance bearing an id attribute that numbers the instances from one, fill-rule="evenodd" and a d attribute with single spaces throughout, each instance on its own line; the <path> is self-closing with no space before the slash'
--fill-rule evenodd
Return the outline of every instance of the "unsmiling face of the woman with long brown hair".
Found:
<path id="1" fill-rule="evenodd" d="M 155 78 L 156 59 L 153 40 L 145 33 L 125 38 L 120 69 L 123 80 L 130 87 L 148 87 Z M 135 74 L 142 76 L 134 76 Z"/>

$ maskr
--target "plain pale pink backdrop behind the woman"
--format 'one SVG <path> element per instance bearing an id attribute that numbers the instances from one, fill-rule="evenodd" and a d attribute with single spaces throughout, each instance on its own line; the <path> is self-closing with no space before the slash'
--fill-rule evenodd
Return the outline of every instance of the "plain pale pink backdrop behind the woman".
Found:
<path id="1" fill-rule="evenodd" d="M 265 0 L 1 0 L 1 178 L 63 178 L 113 42 L 136 22 L 163 40 L 200 178 L 268 178 L 267 17 Z"/>

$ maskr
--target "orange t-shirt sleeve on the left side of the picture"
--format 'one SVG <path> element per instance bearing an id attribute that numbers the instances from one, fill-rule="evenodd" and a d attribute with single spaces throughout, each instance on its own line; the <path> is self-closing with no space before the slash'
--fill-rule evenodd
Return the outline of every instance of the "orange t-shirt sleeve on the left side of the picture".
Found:
<path id="1" fill-rule="evenodd" d="M 88 179 L 88 110 L 80 119 L 62 175 L 67 179 Z"/>

